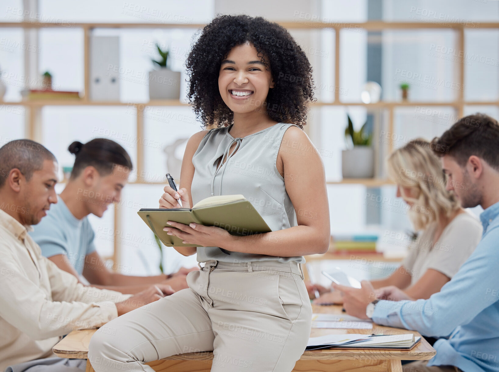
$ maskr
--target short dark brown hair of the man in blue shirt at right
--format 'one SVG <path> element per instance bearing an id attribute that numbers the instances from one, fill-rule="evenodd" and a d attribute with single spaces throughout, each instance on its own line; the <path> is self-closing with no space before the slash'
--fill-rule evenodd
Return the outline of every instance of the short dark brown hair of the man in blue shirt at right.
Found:
<path id="1" fill-rule="evenodd" d="M 489 115 L 476 113 L 459 119 L 442 137 L 435 137 L 432 145 L 437 156 L 452 156 L 461 167 L 475 155 L 499 171 L 499 123 Z"/>

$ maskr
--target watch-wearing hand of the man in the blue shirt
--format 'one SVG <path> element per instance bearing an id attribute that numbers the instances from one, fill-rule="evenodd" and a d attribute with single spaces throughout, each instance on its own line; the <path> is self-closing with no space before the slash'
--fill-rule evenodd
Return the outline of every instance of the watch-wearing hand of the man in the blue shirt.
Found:
<path id="1" fill-rule="evenodd" d="M 360 284 L 362 286 L 360 289 L 336 283 L 332 283 L 331 287 L 343 292 L 343 308 L 348 315 L 361 319 L 369 319 L 366 315 L 366 307 L 370 302 L 376 300 L 377 295 L 371 282 L 363 280 Z"/>

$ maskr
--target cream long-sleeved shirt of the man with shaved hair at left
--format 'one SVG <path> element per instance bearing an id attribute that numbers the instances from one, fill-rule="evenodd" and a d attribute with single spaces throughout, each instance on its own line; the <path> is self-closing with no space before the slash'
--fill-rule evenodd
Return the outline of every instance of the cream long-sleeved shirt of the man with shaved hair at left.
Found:
<path id="1" fill-rule="evenodd" d="M 116 318 L 115 303 L 131 296 L 78 283 L 42 256 L 28 230 L 0 209 L 0 371 L 55 357 L 62 336 Z"/>

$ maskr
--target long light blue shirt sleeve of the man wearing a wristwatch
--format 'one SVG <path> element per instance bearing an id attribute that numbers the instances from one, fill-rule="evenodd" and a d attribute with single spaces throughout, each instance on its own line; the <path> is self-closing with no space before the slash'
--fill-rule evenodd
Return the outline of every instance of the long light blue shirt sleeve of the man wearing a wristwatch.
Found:
<path id="1" fill-rule="evenodd" d="M 493 305 L 489 295 L 499 282 L 499 226 L 488 231 L 451 281 L 429 299 L 379 301 L 375 323 L 419 331 L 424 336 L 448 336 Z"/>

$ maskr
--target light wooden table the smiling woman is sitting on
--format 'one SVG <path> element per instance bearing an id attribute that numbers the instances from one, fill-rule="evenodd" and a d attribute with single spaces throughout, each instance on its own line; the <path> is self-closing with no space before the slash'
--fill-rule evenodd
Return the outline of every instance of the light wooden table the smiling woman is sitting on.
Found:
<path id="1" fill-rule="evenodd" d="M 312 305 L 314 313 L 342 314 L 341 306 L 317 306 Z M 92 330 L 72 331 L 63 338 L 52 350 L 61 358 L 87 359 L 88 344 L 95 333 Z M 421 336 L 416 331 L 408 331 L 400 328 L 391 328 L 373 325 L 372 330 L 359 329 L 312 329 L 311 337 L 327 334 L 386 334 L 397 335 L 413 333 Z M 436 354 L 428 342 L 422 338 L 412 350 L 341 350 L 324 349 L 305 351 L 296 362 L 294 372 L 326 372 L 326 371 L 389 371 L 402 372 L 401 360 L 428 360 Z M 154 371 L 168 372 L 202 372 L 210 371 L 213 353 L 188 353 L 174 355 L 159 361 L 147 363 Z M 94 372 L 87 361 L 86 372 Z"/>

